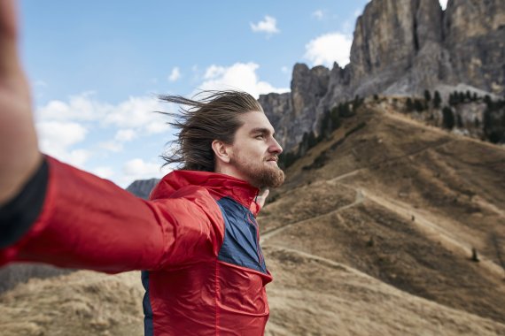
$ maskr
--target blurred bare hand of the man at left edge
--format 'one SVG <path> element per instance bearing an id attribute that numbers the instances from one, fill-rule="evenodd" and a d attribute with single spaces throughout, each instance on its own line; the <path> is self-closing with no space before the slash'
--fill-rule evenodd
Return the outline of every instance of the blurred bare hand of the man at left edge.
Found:
<path id="1" fill-rule="evenodd" d="M 0 0 L 0 206 L 16 195 L 42 160 L 29 88 L 19 64 L 13 0 Z"/>

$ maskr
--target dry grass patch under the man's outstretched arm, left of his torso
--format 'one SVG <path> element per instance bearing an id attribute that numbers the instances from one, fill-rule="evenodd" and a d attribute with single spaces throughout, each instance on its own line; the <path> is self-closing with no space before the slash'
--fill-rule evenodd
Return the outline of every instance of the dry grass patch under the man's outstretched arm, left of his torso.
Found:
<path id="1" fill-rule="evenodd" d="M 30 279 L 0 296 L 3 336 L 143 335 L 140 272 Z"/>

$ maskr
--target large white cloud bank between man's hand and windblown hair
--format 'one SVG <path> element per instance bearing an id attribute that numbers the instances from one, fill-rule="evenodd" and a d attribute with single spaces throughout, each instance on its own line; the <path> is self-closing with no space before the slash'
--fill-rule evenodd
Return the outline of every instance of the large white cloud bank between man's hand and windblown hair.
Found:
<path id="1" fill-rule="evenodd" d="M 35 126 L 44 153 L 87 170 L 92 168 L 88 165 L 91 157 L 108 157 L 107 152 L 121 152 L 127 141 L 170 131 L 168 117 L 153 111 L 174 109 L 149 96 L 129 97 L 111 104 L 98 101 L 93 93 L 83 93 L 38 107 Z M 100 133 L 114 135 L 99 141 L 96 136 Z M 89 139 L 88 134 L 92 134 Z M 105 170 L 96 172 L 103 178 L 112 176 Z M 118 170 L 113 179 L 119 184 L 124 176 Z"/>

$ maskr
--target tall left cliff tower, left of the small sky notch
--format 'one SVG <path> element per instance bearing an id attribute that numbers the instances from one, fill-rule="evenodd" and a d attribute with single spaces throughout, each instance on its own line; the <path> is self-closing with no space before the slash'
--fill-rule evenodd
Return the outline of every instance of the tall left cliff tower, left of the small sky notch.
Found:
<path id="1" fill-rule="evenodd" d="M 354 31 L 353 94 L 407 94 L 442 80 L 441 27 L 438 0 L 370 2 Z"/>

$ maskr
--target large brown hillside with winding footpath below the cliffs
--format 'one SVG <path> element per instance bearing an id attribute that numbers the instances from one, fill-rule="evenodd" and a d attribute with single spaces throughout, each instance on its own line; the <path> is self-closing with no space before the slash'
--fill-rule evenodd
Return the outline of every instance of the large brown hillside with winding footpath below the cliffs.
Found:
<path id="1" fill-rule="evenodd" d="M 341 141 L 363 121 L 365 127 Z M 322 151 L 322 168 L 302 169 Z M 345 263 L 409 294 L 503 324 L 502 172 L 503 148 L 369 103 L 288 170 L 281 197 L 260 218 L 263 246 Z M 347 206 L 315 202 L 331 197 Z M 480 263 L 470 261 L 472 247 Z M 284 281 L 277 278 L 273 287 Z"/>

